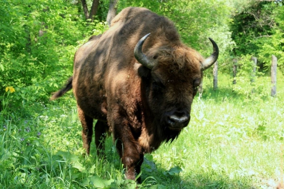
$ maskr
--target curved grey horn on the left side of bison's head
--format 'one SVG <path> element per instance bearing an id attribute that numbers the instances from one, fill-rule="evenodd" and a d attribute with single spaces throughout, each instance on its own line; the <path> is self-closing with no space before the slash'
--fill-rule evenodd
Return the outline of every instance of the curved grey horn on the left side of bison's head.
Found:
<path id="1" fill-rule="evenodd" d="M 141 63 L 143 66 L 152 69 L 154 67 L 154 63 L 153 61 L 151 61 L 151 58 L 149 56 L 146 56 L 145 54 L 143 54 L 142 52 L 142 46 L 143 43 L 145 42 L 145 40 L 147 39 L 147 37 L 150 35 L 150 33 L 148 33 L 147 35 L 145 35 L 144 37 L 142 37 L 138 43 L 136 44 L 135 48 L 134 48 L 134 56 L 136 58 L 136 60 Z"/>

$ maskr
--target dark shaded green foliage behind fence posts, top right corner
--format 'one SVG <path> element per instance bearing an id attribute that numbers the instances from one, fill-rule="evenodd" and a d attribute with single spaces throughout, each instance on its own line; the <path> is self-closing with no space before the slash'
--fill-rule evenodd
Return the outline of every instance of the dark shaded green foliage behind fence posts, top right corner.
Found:
<path id="1" fill-rule="evenodd" d="M 271 56 L 275 55 L 280 71 L 284 73 L 283 5 L 283 1 L 250 1 L 248 7 L 233 17 L 231 31 L 236 43 L 235 56 L 256 56 L 267 71 Z"/>

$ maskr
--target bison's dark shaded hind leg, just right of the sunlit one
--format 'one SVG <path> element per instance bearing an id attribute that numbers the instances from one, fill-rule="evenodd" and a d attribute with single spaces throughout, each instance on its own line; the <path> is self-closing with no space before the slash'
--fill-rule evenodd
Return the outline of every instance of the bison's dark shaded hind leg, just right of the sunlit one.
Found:
<path id="1" fill-rule="evenodd" d="M 105 150 L 105 139 L 106 139 L 106 132 L 107 132 L 107 122 L 97 120 L 95 125 L 95 143 L 97 146 L 97 155 L 103 155 Z"/>

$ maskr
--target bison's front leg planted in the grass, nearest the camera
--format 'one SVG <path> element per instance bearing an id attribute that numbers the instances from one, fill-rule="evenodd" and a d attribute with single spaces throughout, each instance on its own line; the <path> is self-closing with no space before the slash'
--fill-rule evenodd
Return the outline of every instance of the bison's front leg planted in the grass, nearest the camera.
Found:
<path id="1" fill-rule="evenodd" d="M 135 180 L 135 173 L 137 175 L 141 171 L 141 164 L 143 162 L 143 154 L 140 152 L 140 147 L 133 137 L 130 126 L 114 126 L 114 139 L 116 140 L 116 148 L 126 168 L 126 179 Z M 137 179 L 141 182 L 141 179 Z"/>

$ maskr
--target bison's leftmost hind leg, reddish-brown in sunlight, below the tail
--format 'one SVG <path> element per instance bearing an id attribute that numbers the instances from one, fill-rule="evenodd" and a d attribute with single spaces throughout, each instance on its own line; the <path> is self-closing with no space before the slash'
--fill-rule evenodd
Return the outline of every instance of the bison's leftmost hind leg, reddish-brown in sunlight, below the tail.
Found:
<path id="1" fill-rule="evenodd" d="M 87 155 L 89 155 L 93 135 L 93 118 L 86 115 L 80 107 L 78 107 L 78 114 L 82 123 L 83 148 L 85 148 Z"/>

